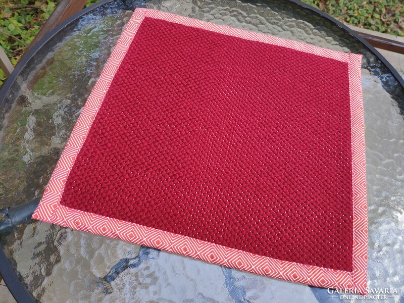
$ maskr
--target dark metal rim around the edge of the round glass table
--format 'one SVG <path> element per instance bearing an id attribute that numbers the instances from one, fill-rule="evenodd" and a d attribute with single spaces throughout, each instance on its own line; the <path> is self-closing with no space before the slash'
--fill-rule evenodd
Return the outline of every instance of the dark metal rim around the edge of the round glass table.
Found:
<path id="1" fill-rule="evenodd" d="M 49 40 L 51 40 L 55 35 L 58 34 L 59 31 L 64 29 L 66 26 L 68 26 L 70 23 L 74 22 L 78 18 L 82 17 L 83 15 L 89 13 L 90 11 L 93 11 L 100 6 L 103 6 L 107 3 L 110 3 L 114 0 L 101 0 L 100 2 L 83 9 L 79 13 L 73 15 L 71 18 L 60 24 L 58 27 L 56 27 L 54 30 L 50 31 L 45 35 L 37 44 L 35 44 L 24 56 L 24 58 L 17 64 L 15 67 L 14 71 L 12 74 L 7 78 L 6 82 L 4 83 L 2 89 L 0 90 L 0 105 L 3 104 L 7 94 L 9 93 L 9 90 L 12 86 L 12 84 L 15 82 L 17 79 L 18 75 L 22 71 L 22 69 L 26 66 L 26 64 L 31 60 L 33 56 L 38 52 L 38 50 Z M 351 30 L 349 27 L 344 25 L 343 23 L 339 22 L 338 20 L 332 18 L 331 16 L 327 15 L 324 12 L 321 12 L 320 10 L 307 5 L 305 3 L 302 3 L 298 0 L 287 0 L 289 2 L 292 2 L 294 4 L 297 4 L 301 6 L 304 9 L 309 9 L 315 14 L 319 14 L 322 17 L 330 20 L 331 22 L 335 23 L 342 29 L 344 29 L 346 32 L 348 32 L 350 35 L 354 36 L 357 40 L 362 42 L 366 47 L 370 49 L 372 53 L 376 55 L 376 57 L 390 70 L 391 74 L 394 76 L 394 78 L 397 80 L 397 82 L 404 87 L 404 80 L 401 78 L 401 76 L 398 74 L 398 72 L 394 69 L 394 67 L 369 43 L 367 42 L 363 37 L 361 37 L 359 34 L 357 34 L 354 30 Z M 3 250 L 3 247 L 0 245 L 0 276 L 4 279 L 6 285 L 8 286 L 10 292 L 14 296 L 17 302 L 35 302 L 35 300 L 32 298 L 31 294 L 27 291 L 23 283 L 18 279 L 17 274 L 14 272 L 12 265 L 9 263 L 9 260 Z"/>

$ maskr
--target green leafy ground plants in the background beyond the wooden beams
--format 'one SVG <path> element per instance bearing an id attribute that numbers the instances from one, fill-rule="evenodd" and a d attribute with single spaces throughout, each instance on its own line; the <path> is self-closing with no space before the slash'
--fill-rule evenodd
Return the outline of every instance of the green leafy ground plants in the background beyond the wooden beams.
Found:
<path id="1" fill-rule="evenodd" d="M 89 0 L 86 6 L 98 0 Z M 404 36 L 402 0 L 303 0 L 342 22 Z M 0 0 L 0 45 L 13 65 L 24 53 L 58 0 Z M 0 70 L 0 85 L 6 79 Z"/>

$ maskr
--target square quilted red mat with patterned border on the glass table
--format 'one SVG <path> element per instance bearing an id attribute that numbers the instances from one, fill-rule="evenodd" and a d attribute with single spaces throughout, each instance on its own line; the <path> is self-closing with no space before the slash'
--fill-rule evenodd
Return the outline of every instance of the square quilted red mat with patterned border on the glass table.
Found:
<path id="1" fill-rule="evenodd" d="M 136 9 L 33 218 L 364 293 L 361 57 Z"/>

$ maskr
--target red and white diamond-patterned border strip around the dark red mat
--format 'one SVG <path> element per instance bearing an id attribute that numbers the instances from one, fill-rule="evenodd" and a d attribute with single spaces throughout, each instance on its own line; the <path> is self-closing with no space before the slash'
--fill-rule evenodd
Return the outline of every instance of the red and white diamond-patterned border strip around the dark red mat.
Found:
<path id="1" fill-rule="evenodd" d="M 351 108 L 351 148 L 353 184 L 353 263 L 352 272 L 282 261 L 251 254 L 226 246 L 187 236 L 87 213 L 60 205 L 60 200 L 76 157 L 91 124 L 103 103 L 120 63 L 145 17 L 162 19 L 187 26 L 203 28 L 243 39 L 280 45 L 300 52 L 348 63 Z M 354 289 L 362 294 L 367 288 L 367 204 L 365 179 L 365 138 L 361 87 L 361 55 L 345 54 L 306 43 L 286 40 L 265 34 L 235 29 L 169 13 L 136 9 L 122 32 L 107 64 L 96 82 L 74 126 L 62 156 L 52 174 L 38 208 L 32 218 L 49 223 L 89 231 L 97 235 L 120 238 L 124 241 L 164 249 L 176 254 L 210 263 L 236 268 L 264 276 L 336 289 Z"/>

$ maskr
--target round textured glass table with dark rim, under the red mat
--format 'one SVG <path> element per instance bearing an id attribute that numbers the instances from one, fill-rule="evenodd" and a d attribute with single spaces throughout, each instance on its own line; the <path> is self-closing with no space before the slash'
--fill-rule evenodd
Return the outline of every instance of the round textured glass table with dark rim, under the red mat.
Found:
<path id="1" fill-rule="evenodd" d="M 75 121 L 136 7 L 364 56 L 369 287 L 393 289 L 387 299 L 403 302 L 404 82 L 373 47 L 347 27 L 290 0 L 102 1 L 31 49 L 0 91 L 0 275 L 16 299 L 351 300 L 327 289 L 231 270 L 30 219 Z M 361 299 L 354 296 L 352 300 Z"/>

